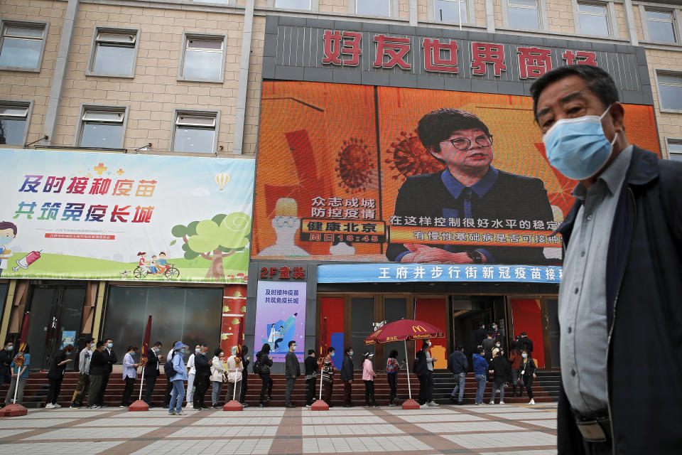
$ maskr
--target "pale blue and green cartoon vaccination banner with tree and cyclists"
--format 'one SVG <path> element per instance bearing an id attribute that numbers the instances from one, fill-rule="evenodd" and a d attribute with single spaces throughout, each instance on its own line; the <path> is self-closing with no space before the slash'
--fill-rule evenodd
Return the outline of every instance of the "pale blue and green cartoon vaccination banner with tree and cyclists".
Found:
<path id="1" fill-rule="evenodd" d="M 0 277 L 247 282 L 253 160 L 0 156 Z"/>

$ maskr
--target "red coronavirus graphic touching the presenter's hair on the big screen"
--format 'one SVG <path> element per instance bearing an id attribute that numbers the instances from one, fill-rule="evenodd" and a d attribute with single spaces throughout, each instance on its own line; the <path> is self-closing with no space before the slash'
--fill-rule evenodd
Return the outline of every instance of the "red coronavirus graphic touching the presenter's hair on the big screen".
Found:
<path id="1" fill-rule="evenodd" d="M 391 144 L 391 148 L 386 150 L 386 154 L 389 156 L 386 158 L 386 164 L 398 172 L 393 176 L 394 180 L 438 172 L 445 168 L 445 164 L 435 159 L 413 132 L 410 134 L 401 132 L 400 137 Z"/>

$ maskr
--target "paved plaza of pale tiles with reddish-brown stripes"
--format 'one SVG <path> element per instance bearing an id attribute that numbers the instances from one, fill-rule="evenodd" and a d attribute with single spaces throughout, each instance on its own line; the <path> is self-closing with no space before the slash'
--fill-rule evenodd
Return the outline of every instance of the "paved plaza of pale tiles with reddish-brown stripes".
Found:
<path id="1" fill-rule="evenodd" d="M 556 454 L 556 404 L 252 408 L 242 412 L 31 410 L 0 418 L 0 451 L 56 454 Z"/>

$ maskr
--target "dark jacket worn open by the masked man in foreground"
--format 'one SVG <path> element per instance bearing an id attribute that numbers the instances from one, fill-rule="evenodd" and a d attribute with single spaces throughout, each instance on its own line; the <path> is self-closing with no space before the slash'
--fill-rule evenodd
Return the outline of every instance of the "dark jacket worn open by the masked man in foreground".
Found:
<path id="1" fill-rule="evenodd" d="M 639 149 L 613 220 L 606 267 L 607 392 L 615 454 L 679 454 L 682 446 L 682 163 Z M 577 201 L 560 232 L 570 242 Z M 633 343 L 641 340 L 665 340 Z M 637 373 L 633 390 L 632 373 Z M 563 392 L 559 454 L 584 454 Z M 652 437 L 652 435 L 654 435 Z"/>

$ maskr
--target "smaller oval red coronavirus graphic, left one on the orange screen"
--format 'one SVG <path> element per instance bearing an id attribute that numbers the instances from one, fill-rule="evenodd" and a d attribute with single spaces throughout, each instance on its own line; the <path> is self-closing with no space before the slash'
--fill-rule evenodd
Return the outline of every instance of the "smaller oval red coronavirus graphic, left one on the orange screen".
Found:
<path id="1" fill-rule="evenodd" d="M 362 139 L 351 137 L 343 141 L 336 159 L 336 171 L 342 184 L 354 193 L 376 186 L 377 164 L 374 160 Z"/>

